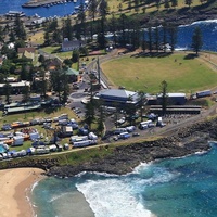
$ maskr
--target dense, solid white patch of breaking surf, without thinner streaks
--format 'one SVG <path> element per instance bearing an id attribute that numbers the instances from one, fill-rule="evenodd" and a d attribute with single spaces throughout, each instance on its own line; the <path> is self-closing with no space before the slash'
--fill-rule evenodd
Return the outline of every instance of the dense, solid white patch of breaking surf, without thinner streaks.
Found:
<path id="1" fill-rule="evenodd" d="M 89 180 L 86 183 L 76 184 L 95 217 L 150 217 L 140 201 L 137 201 L 129 186 L 117 179 Z"/>

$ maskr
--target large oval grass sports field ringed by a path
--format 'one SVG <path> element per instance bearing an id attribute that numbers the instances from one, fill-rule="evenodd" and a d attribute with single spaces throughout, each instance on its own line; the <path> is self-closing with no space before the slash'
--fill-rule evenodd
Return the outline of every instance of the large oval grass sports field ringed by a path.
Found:
<path id="1" fill-rule="evenodd" d="M 167 81 L 169 92 L 191 93 L 217 86 L 217 72 L 201 59 L 186 59 L 184 53 L 165 58 L 123 56 L 101 67 L 114 86 L 132 91 L 157 93 L 163 80 Z"/>

